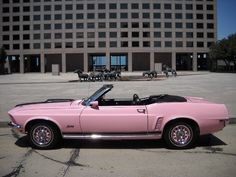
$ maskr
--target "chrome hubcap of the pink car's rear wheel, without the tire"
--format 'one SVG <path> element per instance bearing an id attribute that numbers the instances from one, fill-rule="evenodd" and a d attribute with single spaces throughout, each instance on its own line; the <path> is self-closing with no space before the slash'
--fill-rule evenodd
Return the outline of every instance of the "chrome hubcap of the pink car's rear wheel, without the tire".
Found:
<path id="1" fill-rule="evenodd" d="M 177 146 L 187 145 L 191 139 L 191 130 L 185 125 L 177 125 L 170 132 L 171 141 Z"/>

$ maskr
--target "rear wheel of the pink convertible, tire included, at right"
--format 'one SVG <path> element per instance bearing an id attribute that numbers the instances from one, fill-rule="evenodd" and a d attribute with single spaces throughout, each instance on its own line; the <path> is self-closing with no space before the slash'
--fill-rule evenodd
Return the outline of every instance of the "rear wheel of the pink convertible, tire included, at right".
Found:
<path id="1" fill-rule="evenodd" d="M 185 122 L 175 122 L 169 125 L 164 132 L 164 140 L 168 147 L 187 149 L 193 147 L 197 140 L 197 131 L 194 126 Z"/>

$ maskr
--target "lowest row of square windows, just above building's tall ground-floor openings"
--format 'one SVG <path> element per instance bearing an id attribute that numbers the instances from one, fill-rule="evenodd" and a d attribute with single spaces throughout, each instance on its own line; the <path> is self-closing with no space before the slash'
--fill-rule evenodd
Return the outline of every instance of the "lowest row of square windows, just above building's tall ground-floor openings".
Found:
<path id="1" fill-rule="evenodd" d="M 45 42 L 43 43 L 43 46 L 41 46 L 41 43 L 33 43 L 32 44 L 32 48 L 33 49 L 40 49 L 41 47 L 43 47 L 44 49 L 51 49 L 53 48 L 53 45 L 54 44 L 54 48 L 73 48 L 73 42 L 65 42 L 64 43 L 64 46 L 62 45 L 62 43 L 60 42 L 56 42 L 56 43 L 49 43 L 49 42 Z M 86 44 L 86 46 L 85 46 Z M 142 44 L 142 46 L 141 46 Z M 153 47 L 173 47 L 173 42 L 172 41 L 165 41 L 165 42 L 161 42 L 161 41 L 154 41 L 153 42 Z M 204 42 L 196 42 L 196 47 L 198 48 L 202 48 L 205 46 L 205 44 L 207 45 L 207 47 L 210 47 L 212 45 L 212 42 L 207 42 L 207 43 L 204 43 Z M 132 41 L 131 42 L 131 46 L 132 47 L 150 47 L 150 41 L 143 41 L 142 43 L 139 42 L 139 41 Z M 3 47 L 6 49 L 6 50 L 9 50 L 10 49 L 10 45 L 9 44 L 3 44 Z M 95 48 L 95 42 L 93 41 L 90 41 L 90 42 L 87 42 L 87 43 L 84 43 L 84 42 L 76 42 L 76 48 Z M 98 42 L 98 47 L 99 48 L 104 48 L 104 47 L 107 47 L 106 46 L 106 42 L 105 41 L 99 41 Z M 118 47 L 117 46 L 117 41 L 110 41 L 109 42 L 109 47 Z M 120 42 L 120 47 L 129 47 L 129 43 L 128 41 L 122 41 Z M 182 41 L 176 41 L 175 42 L 175 47 L 194 47 L 194 42 L 193 41 L 187 41 L 185 42 L 185 46 L 183 45 L 183 42 Z M 20 44 L 13 44 L 12 45 L 12 49 L 20 49 Z M 30 44 L 29 43 L 25 43 L 25 44 L 22 44 L 22 49 L 30 49 Z"/>

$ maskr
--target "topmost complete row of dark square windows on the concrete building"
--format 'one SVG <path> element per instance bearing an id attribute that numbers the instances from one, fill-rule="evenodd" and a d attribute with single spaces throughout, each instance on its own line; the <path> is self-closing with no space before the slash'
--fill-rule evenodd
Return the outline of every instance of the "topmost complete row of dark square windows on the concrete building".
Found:
<path id="1" fill-rule="evenodd" d="M 117 3 L 110 3 L 110 4 L 105 4 L 105 3 L 100 3 L 97 4 L 97 7 L 95 8 L 95 4 L 86 4 L 86 6 L 84 4 L 76 4 L 75 6 L 73 4 L 66 4 L 66 5 L 44 5 L 44 6 L 33 6 L 33 11 L 37 12 L 37 11 L 61 11 L 61 10 L 105 10 L 105 9 L 110 9 L 110 10 L 116 10 L 116 9 L 129 9 L 129 4 L 127 3 L 121 3 L 121 4 L 117 4 Z M 163 7 L 162 7 L 163 6 Z M 170 3 L 165 3 L 165 4 L 160 4 L 160 3 L 154 3 L 154 4 L 149 4 L 149 3 L 143 3 L 143 4 L 139 4 L 139 3 L 132 3 L 130 4 L 130 9 L 144 9 L 144 10 L 149 10 L 149 9 L 162 9 L 164 8 L 165 10 L 193 10 L 193 4 L 186 4 L 185 6 L 183 4 L 170 4 Z M 195 10 L 214 10 L 214 5 L 212 4 L 207 4 L 207 5 L 203 5 L 203 4 L 196 4 L 195 6 Z M 10 8 L 9 7 L 3 7 L 2 8 L 2 12 L 3 13 L 9 13 Z M 12 11 L 13 12 L 20 12 L 20 7 L 19 6 L 15 6 L 12 7 Z M 22 7 L 22 12 L 30 12 L 30 6 L 23 6 Z"/>

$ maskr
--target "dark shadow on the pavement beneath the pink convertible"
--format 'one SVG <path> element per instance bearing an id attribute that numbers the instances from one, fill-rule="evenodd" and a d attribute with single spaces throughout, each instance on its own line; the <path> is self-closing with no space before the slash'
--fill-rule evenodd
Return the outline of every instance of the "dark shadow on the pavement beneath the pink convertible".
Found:
<path id="1" fill-rule="evenodd" d="M 15 144 L 19 147 L 30 147 L 28 136 L 19 138 Z M 199 138 L 197 147 L 212 147 L 218 145 L 227 145 L 216 136 L 204 135 Z M 160 149 L 166 148 L 163 140 L 62 140 L 61 148 L 80 148 L 80 149 Z"/>

